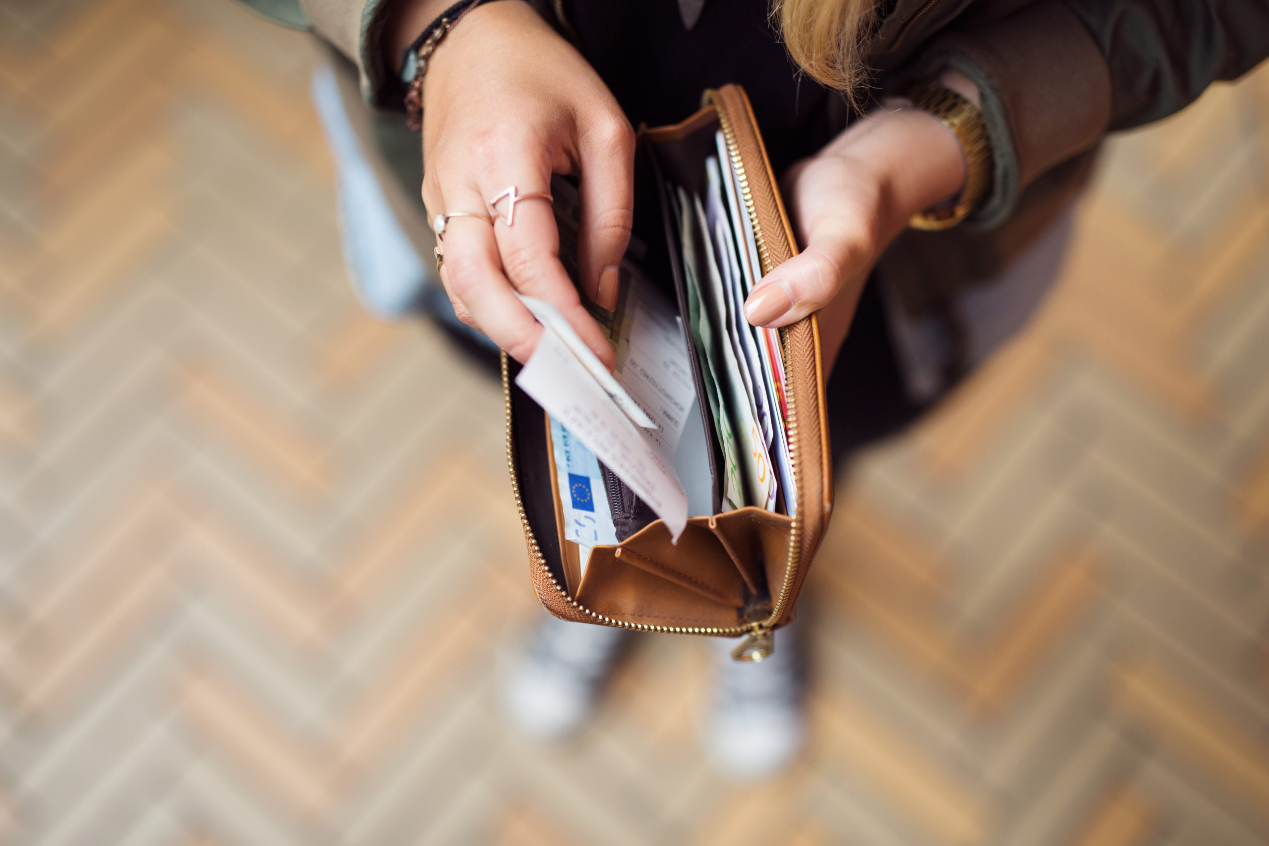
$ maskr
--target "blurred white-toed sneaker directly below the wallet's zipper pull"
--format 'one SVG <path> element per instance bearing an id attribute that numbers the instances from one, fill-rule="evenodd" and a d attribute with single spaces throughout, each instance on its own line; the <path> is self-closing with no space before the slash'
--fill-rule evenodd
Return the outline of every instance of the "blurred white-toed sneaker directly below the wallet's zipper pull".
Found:
<path id="1" fill-rule="evenodd" d="M 725 778 L 769 779 L 788 766 L 806 742 L 802 656 L 793 628 L 775 633 L 775 652 L 760 663 L 732 660 L 739 639 L 712 644 L 714 696 L 702 742 Z"/>

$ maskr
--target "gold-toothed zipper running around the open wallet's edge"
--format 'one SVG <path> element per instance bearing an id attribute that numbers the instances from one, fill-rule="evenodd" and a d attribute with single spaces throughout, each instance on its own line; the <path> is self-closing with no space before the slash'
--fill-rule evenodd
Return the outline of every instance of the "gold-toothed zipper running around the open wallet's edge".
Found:
<path id="1" fill-rule="evenodd" d="M 709 89 L 706 91 L 706 98 L 708 98 L 709 103 L 713 104 L 714 112 L 718 114 L 718 126 L 722 128 L 723 140 L 727 143 L 727 152 L 731 156 L 732 166 L 736 169 L 736 179 L 740 183 L 740 193 L 745 203 L 745 211 L 749 213 L 749 222 L 754 227 L 754 241 L 758 246 L 759 259 L 763 263 L 763 274 L 765 275 L 773 270 L 770 266 L 772 259 L 766 249 L 766 238 L 763 233 L 763 226 L 758 219 L 758 212 L 754 207 L 754 195 L 749 188 L 749 176 L 745 172 L 745 164 L 740 159 L 740 147 L 736 143 L 736 132 L 731 123 L 731 115 L 727 114 L 726 105 L 723 104 L 722 96 L 720 96 L 718 91 Z M 789 335 L 784 329 L 779 330 L 779 335 L 780 354 L 784 358 L 786 368 L 788 368 L 792 361 Z M 529 526 L 529 517 L 524 512 L 524 500 L 520 496 L 520 479 L 515 473 L 515 446 L 511 436 L 511 381 L 506 364 L 506 353 L 503 353 L 501 361 L 503 396 L 506 402 L 506 467 L 511 476 L 511 492 L 515 495 L 515 510 L 520 515 L 520 526 L 524 529 L 524 537 L 529 542 L 530 557 L 533 559 L 532 566 L 542 571 L 542 575 L 546 576 L 547 581 L 549 581 L 552 587 L 555 587 L 560 599 L 563 600 L 570 608 L 577 610 L 585 616 L 591 618 L 596 623 L 622 629 L 662 632 L 669 634 L 708 634 L 714 637 L 739 637 L 741 634 L 749 634 L 749 637 L 732 651 L 732 657 L 737 661 L 761 661 L 770 654 L 773 648 L 772 632 L 788 608 L 789 594 L 793 590 L 793 580 L 797 575 L 797 562 L 801 558 L 801 519 L 797 516 L 792 517 L 792 524 L 789 525 L 788 561 L 784 566 L 784 581 L 780 585 L 779 595 L 775 597 L 775 602 L 772 606 L 772 613 L 765 619 L 755 623 L 728 627 L 659 625 L 655 623 L 629 623 L 627 620 L 618 620 L 581 605 L 577 600 L 569 595 L 569 591 L 555 577 L 555 573 L 551 572 L 551 568 L 547 566 L 546 558 L 542 554 L 542 548 L 538 547 L 538 539 L 533 535 L 533 529 Z M 801 474 L 798 473 L 797 410 L 792 391 L 787 392 L 786 402 L 788 405 L 788 426 L 786 431 L 789 440 L 789 465 L 793 471 L 793 478 L 801 479 Z M 802 490 L 803 486 L 798 485 L 798 491 L 801 492 Z M 798 502 L 798 514 L 803 514 L 803 506 L 805 504 Z"/>

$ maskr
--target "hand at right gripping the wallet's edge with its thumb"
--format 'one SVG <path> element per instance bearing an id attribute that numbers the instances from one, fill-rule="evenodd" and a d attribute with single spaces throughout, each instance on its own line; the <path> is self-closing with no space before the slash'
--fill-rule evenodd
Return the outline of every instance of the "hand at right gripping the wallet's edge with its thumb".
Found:
<path id="1" fill-rule="evenodd" d="M 948 88 L 977 103 L 959 74 Z M 824 359 L 834 361 L 855 303 L 881 252 L 912 214 L 957 195 L 964 157 L 938 118 L 887 103 L 853 124 L 784 178 L 784 197 L 802 252 L 754 288 L 745 315 L 755 326 L 786 326 L 820 312 Z"/>

